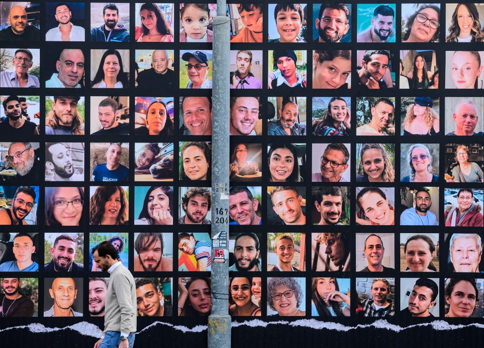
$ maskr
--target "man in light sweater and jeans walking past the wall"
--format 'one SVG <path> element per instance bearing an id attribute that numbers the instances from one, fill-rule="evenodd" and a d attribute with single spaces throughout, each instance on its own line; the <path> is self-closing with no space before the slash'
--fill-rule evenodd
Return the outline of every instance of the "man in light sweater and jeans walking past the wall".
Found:
<path id="1" fill-rule="evenodd" d="M 117 260 L 117 251 L 108 241 L 92 249 L 97 266 L 108 271 L 104 331 L 94 348 L 132 348 L 136 333 L 136 286 L 131 272 Z"/>

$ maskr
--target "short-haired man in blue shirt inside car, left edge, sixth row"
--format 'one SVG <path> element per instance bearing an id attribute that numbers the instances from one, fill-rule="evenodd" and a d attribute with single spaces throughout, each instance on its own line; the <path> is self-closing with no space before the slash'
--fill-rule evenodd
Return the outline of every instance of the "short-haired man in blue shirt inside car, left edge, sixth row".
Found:
<path id="1" fill-rule="evenodd" d="M 35 252 L 34 242 L 28 233 L 17 233 L 14 237 L 15 261 L 7 261 L 0 265 L 1 272 L 36 272 L 37 262 L 32 261 Z"/>

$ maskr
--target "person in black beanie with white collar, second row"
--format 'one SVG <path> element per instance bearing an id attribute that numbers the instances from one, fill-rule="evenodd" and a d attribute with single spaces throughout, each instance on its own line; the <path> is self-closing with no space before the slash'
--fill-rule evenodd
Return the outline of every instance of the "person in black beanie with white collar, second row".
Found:
<path id="1" fill-rule="evenodd" d="M 270 88 L 286 92 L 306 88 L 306 76 L 296 72 L 297 56 L 294 51 L 274 50 L 272 57 L 278 70 L 269 74 Z"/>

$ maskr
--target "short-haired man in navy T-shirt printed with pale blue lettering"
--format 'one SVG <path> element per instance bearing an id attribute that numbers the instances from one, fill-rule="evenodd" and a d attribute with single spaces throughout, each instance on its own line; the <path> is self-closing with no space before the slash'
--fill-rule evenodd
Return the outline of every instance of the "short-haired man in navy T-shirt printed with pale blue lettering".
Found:
<path id="1" fill-rule="evenodd" d="M 121 145 L 112 143 L 106 151 L 106 163 L 97 165 L 92 172 L 93 181 L 128 181 L 129 169 L 119 163 Z"/>

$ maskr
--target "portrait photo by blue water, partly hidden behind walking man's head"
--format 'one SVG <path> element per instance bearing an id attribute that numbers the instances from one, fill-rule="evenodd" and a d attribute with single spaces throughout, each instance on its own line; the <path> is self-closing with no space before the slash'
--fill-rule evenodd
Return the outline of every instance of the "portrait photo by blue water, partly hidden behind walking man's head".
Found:
<path id="1" fill-rule="evenodd" d="M 99 243 L 108 241 L 117 251 L 117 260 L 121 261 L 125 267 L 129 267 L 128 257 L 128 242 L 129 236 L 127 232 L 91 232 L 89 233 L 89 271 L 100 272 L 101 268 L 92 257 L 92 249 L 99 245 Z"/>

